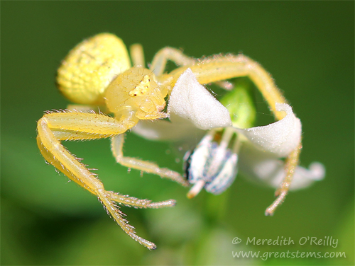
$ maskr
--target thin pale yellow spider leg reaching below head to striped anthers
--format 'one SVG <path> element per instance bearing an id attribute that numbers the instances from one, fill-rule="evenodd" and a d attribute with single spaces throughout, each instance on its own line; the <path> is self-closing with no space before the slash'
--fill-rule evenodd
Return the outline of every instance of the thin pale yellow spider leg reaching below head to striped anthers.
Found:
<path id="1" fill-rule="evenodd" d="M 143 161 L 138 158 L 126 157 L 123 153 L 124 148 L 124 134 L 119 134 L 111 138 L 111 151 L 116 158 L 117 163 L 127 168 L 142 170 L 146 173 L 153 173 L 160 175 L 162 178 L 169 178 L 181 185 L 188 186 L 187 180 L 182 178 L 180 173 L 170 170 L 168 168 L 160 168 L 156 163 Z"/>

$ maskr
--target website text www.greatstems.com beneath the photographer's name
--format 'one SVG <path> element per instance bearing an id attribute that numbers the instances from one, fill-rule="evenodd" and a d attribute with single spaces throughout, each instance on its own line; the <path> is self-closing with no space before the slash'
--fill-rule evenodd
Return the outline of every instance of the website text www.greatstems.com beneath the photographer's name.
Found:
<path id="1" fill-rule="evenodd" d="M 345 252 L 315 252 L 315 251 L 232 251 L 233 258 L 261 258 L 261 260 L 268 260 L 269 258 L 346 258 Z"/>

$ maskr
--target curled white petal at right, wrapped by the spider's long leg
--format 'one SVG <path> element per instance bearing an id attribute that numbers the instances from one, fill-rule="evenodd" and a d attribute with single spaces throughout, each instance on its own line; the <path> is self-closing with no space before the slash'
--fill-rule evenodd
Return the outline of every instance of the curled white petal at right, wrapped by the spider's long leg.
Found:
<path id="1" fill-rule="evenodd" d="M 276 103 L 276 110 L 285 111 L 286 116 L 270 125 L 237 131 L 244 134 L 261 151 L 285 157 L 300 144 L 302 125 L 300 119 L 293 114 L 290 105 Z"/>

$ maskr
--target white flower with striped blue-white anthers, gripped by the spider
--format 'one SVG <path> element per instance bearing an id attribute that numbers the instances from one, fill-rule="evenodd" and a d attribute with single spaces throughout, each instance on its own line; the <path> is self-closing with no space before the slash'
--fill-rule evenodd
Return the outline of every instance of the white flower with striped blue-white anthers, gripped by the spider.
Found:
<path id="1" fill-rule="evenodd" d="M 175 83 L 169 98 L 170 121 L 141 121 L 133 128 L 136 134 L 148 139 L 183 139 L 192 130 L 210 129 L 192 154 L 185 157 L 188 164 L 190 197 L 202 187 L 214 194 L 226 190 L 234 180 L 238 167 L 245 175 L 272 187 L 280 187 L 285 178 L 285 163 L 300 145 L 302 126 L 290 105 L 276 103 L 277 111 L 285 112 L 282 120 L 263 127 L 241 129 L 232 125 L 229 111 L 198 83 L 195 74 L 187 69 Z M 197 129 L 196 129 L 197 128 Z M 221 140 L 214 139 L 224 129 Z M 234 135 L 237 137 L 234 139 Z M 234 144 L 231 144 L 234 139 Z M 312 163 L 310 170 L 297 166 L 291 190 L 307 187 L 324 178 L 324 166 Z"/>

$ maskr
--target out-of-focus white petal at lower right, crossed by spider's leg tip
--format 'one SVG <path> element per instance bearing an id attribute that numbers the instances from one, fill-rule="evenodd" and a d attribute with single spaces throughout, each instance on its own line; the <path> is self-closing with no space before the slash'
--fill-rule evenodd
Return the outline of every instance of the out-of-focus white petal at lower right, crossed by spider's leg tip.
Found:
<path id="1" fill-rule="evenodd" d="M 322 180 L 325 168 L 322 163 L 311 163 L 310 169 L 297 166 L 290 190 L 299 190 L 310 186 L 317 180 Z M 273 154 L 262 153 L 246 144 L 239 154 L 239 170 L 251 180 L 260 181 L 268 186 L 278 188 L 285 178 L 285 163 Z"/>

